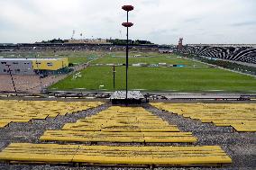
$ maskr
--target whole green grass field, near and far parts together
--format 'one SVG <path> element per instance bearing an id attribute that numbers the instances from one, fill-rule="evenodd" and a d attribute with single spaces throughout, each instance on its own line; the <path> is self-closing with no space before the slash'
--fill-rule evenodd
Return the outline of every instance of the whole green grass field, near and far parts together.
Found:
<path id="1" fill-rule="evenodd" d="M 56 90 L 85 88 L 113 91 L 113 67 L 96 67 L 95 65 L 125 63 L 124 52 L 43 51 L 35 53 L 25 51 L 0 54 L 2 58 L 35 58 L 35 56 L 38 58 L 69 58 L 70 63 L 76 64 L 92 60 L 92 66 L 82 70 L 80 77 L 69 76 L 49 87 Z M 129 64 L 134 63 L 167 63 L 185 67 L 129 67 L 129 89 L 177 92 L 256 92 L 255 77 L 209 67 L 177 55 L 131 52 Z M 104 87 L 99 88 L 99 85 L 104 85 Z M 115 90 L 124 88 L 125 67 L 116 67 Z"/>

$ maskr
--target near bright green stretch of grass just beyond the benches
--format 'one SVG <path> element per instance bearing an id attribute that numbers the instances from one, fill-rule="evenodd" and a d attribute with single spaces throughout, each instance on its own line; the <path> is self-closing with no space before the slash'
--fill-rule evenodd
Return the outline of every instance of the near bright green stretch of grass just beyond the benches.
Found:
<path id="1" fill-rule="evenodd" d="M 50 89 L 86 88 L 105 90 L 113 88 L 113 67 L 87 67 L 81 77 L 69 76 Z M 115 90 L 125 87 L 125 67 L 116 67 Z M 202 92 L 223 90 L 225 92 L 256 91 L 256 79 L 230 71 L 211 67 L 129 67 L 129 89 L 147 91 Z"/>

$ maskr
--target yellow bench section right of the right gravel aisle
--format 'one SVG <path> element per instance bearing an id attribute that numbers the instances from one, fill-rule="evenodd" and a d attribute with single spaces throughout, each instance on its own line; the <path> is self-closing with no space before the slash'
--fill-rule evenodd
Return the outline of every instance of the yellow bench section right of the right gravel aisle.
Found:
<path id="1" fill-rule="evenodd" d="M 160 110 L 178 113 L 186 118 L 232 126 L 239 132 L 256 131 L 255 103 L 151 103 Z"/>

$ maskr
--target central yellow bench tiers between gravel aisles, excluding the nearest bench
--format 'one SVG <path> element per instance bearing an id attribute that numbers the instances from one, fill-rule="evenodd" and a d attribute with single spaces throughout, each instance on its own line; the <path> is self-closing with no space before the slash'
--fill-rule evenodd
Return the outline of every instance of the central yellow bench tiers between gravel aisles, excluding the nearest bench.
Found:
<path id="1" fill-rule="evenodd" d="M 96 115 L 67 123 L 62 130 L 47 130 L 41 140 L 105 142 L 195 142 L 191 132 L 179 132 L 176 125 L 142 107 L 112 106 Z"/>

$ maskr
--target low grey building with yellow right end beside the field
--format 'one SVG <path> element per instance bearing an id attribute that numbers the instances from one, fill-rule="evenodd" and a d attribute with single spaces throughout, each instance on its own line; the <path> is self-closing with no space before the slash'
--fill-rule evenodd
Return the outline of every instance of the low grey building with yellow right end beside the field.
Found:
<path id="1" fill-rule="evenodd" d="M 0 58 L 0 74 L 59 74 L 67 72 L 68 66 L 68 58 Z"/>

